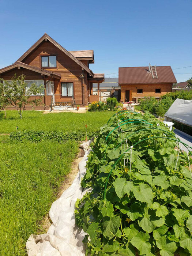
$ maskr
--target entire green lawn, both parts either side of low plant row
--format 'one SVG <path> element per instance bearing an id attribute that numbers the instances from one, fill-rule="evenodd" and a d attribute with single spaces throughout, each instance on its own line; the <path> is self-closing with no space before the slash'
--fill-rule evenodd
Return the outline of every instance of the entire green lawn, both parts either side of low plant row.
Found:
<path id="1" fill-rule="evenodd" d="M 16 130 L 97 131 L 114 112 L 50 113 L 7 111 L 0 133 Z M 0 255 L 26 255 L 31 233 L 44 233 L 40 225 L 56 199 L 61 182 L 78 152 L 75 141 L 12 141 L 0 136 Z"/>

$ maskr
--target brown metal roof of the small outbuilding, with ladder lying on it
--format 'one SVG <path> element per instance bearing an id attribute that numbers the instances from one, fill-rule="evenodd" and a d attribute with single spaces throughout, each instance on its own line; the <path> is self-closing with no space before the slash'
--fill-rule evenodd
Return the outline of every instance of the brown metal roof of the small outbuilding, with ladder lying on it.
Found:
<path id="1" fill-rule="evenodd" d="M 153 78 L 152 72 L 148 69 L 149 67 L 119 68 L 119 84 L 177 83 L 170 66 L 157 66 L 158 78 Z"/>

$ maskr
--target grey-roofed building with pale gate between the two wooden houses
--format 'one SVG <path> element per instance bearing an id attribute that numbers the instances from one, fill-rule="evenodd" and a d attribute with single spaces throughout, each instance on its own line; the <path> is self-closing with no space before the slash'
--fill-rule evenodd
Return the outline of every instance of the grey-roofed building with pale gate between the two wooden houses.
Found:
<path id="1" fill-rule="evenodd" d="M 105 82 L 100 83 L 99 100 L 105 101 L 109 97 L 116 97 L 118 101 L 121 98 L 118 78 L 105 78 Z M 93 94 L 98 95 L 97 83 L 93 84 Z"/>

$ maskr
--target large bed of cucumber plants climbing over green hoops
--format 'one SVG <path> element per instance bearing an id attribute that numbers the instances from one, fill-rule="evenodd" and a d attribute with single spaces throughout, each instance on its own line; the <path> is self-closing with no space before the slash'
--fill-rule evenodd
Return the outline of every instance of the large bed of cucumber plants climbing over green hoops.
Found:
<path id="1" fill-rule="evenodd" d="M 191 152 L 151 114 L 128 111 L 101 127 L 76 202 L 90 255 L 192 254 Z"/>

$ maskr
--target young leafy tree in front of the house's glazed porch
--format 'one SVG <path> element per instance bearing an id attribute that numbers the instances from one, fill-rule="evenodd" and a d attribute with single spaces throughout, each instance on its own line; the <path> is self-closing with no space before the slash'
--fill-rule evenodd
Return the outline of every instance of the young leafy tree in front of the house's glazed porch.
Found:
<path id="1" fill-rule="evenodd" d="M 42 95 L 44 86 L 37 86 L 33 83 L 27 86 L 25 83 L 25 76 L 18 76 L 15 74 L 11 79 L 11 83 L 7 80 L 1 79 L 3 82 L 3 95 L 7 105 L 14 106 L 22 119 L 22 113 L 26 105 L 38 106 L 42 103 L 42 97 L 38 99 L 31 98 L 32 95 Z"/>

